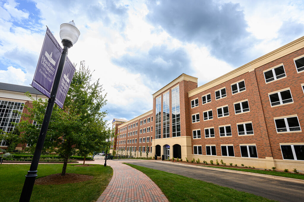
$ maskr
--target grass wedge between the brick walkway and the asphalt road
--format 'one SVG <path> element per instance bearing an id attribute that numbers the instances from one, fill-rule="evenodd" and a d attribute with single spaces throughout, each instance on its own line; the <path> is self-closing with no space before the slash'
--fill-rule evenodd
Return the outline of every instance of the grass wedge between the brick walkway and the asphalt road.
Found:
<path id="1" fill-rule="evenodd" d="M 266 202 L 269 200 L 251 193 L 237 191 L 228 187 L 221 187 L 216 184 L 207 183 L 202 180 L 167 173 L 160 170 L 136 166 L 129 163 L 127 165 L 140 170 L 153 180 L 161 188 L 169 201 L 246 201 L 246 202 Z"/>

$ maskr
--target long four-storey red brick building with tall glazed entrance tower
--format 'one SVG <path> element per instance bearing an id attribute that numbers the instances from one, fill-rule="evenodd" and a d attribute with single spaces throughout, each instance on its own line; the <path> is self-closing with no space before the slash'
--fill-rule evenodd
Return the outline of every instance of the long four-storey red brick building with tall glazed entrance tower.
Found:
<path id="1" fill-rule="evenodd" d="M 303 171 L 303 92 L 304 37 L 199 87 L 181 74 L 153 94 L 151 111 L 113 120 L 114 148 Z"/>

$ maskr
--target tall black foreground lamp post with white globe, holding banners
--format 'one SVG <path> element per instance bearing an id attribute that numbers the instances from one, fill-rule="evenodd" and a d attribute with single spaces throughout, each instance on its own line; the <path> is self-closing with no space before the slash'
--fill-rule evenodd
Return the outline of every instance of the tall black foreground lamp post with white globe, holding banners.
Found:
<path id="1" fill-rule="evenodd" d="M 44 139 L 45 139 L 45 136 L 47 133 L 47 128 L 50 123 L 50 118 L 52 115 L 55 98 L 56 98 L 58 87 L 60 84 L 60 78 L 61 78 L 62 71 L 64 68 L 65 60 L 67 58 L 67 50 L 69 48 L 71 48 L 73 46 L 73 44 L 75 44 L 77 42 L 80 32 L 77 29 L 77 27 L 75 26 L 75 23 L 73 21 L 71 21 L 71 22 L 60 25 L 59 35 L 60 35 L 60 39 L 62 40 L 61 42 L 62 42 L 64 48 L 63 48 L 63 51 L 62 51 L 62 54 L 61 54 L 61 57 L 59 60 L 57 74 L 54 79 L 54 84 L 52 87 L 50 98 L 48 100 L 47 109 L 45 111 L 45 115 L 43 118 L 43 123 L 42 123 L 41 129 L 40 129 L 40 134 L 38 137 L 36 149 L 35 149 L 35 152 L 33 155 L 33 160 L 32 160 L 31 166 L 29 168 L 29 171 L 27 172 L 27 175 L 25 176 L 26 178 L 24 181 L 24 185 L 22 188 L 19 202 L 29 202 L 29 200 L 31 198 L 35 179 L 37 176 L 37 167 L 38 167 L 41 151 L 43 149 Z"/>

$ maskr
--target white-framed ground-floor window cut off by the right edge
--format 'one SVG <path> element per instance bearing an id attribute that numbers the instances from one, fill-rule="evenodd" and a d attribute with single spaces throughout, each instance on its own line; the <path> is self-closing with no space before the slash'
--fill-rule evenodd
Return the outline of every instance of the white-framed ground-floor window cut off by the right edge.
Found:
<path id="1" fill-rule="evenodd" d="M 281 145 L 283 159 L 304 160 L 304 145 Z"/>

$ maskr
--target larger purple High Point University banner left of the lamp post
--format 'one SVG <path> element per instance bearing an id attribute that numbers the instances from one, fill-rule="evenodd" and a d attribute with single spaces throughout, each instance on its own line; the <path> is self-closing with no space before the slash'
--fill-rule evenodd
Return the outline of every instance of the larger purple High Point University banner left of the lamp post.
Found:
<path id="1" fill-rule="evenodd" d="M 32 86 L 50 98 L 62 48 L 47 28 Z"/>

